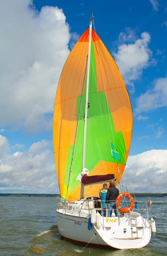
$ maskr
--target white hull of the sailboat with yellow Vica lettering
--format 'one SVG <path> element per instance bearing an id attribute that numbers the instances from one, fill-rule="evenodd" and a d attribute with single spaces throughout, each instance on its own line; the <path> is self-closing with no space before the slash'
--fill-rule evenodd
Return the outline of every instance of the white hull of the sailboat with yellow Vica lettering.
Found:
<path id="1" fill-rule="evenodd" d="M 149 243 L 151 226 L 139 213 L 131 212 L 122 218 L 101 217 L 101 228 L 95 224 L 88 230 L 90 212 L 81 201 L 67 204 L 66 210 L 57 209 L 60 236 L 77 244 L 89 242 L 90 246 L 117 249 L 141 248 Z"/>

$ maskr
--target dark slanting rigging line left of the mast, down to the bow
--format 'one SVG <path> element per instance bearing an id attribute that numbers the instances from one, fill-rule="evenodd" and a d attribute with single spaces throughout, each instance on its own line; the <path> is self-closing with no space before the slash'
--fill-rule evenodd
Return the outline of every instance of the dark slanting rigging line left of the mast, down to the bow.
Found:
<path id="1" fill-rule="evenodd" d="M 87 60 L 86 60 L 86 66 L 87 66 Z M 80 107 L 79 107 L 79 113 L 78 113 L 79 115 L 80 115 L 80 111 L 81 111 L 81 104 L 82 104 L 82 96 L 83 96 L 83 88 L 84 88 L 85 77 L 86 77 L 86 68 L 85 68 L 85 74 L 84 74 L 84 78 L 83 78 L 83 87 L 82 87 L 81 101 L 80 101 Z M 78 120 L 77 120 L 74 147 L 73 147 L 73 151 L 72 151 L 72 160 L 71 160 L 71 165 L 70 165 L 70 170 L 69 170 L 69 180 L 68 180 L 68 185 L 67 185 L 66 199 L 67 199 L 68 191 L 69 191 L 69 182 L 70 182 L 70 176 L 71 176 L 71 172 L 72 172 L 72 163 L 73 163 L 75 143 L 76 143 L 76 138 L 77 138 L 78 124 L 79 124 L 79 116 L 78 116 Z"/>

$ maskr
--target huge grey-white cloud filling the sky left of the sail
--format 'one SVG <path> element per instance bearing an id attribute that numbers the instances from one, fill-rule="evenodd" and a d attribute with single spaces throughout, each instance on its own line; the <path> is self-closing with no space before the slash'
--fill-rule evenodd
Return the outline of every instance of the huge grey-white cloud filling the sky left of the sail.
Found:
<path id="1" fill-rule="evenodd" d="M 59 76 L 69 54 L 62 9 L 0 1 L 0 125 L 49 130 Z M 9 8 L 10 6 L 10 8 Z"/>

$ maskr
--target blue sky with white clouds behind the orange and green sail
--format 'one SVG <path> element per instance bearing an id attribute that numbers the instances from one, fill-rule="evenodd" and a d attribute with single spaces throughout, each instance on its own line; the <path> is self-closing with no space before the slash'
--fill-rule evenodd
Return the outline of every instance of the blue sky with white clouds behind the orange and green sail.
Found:
<path id="1" fill-rule="evenodd" d="M 129 171 L 142 177 L 144 168 L 166 178 L 167 1 L 9 2 L 0 3 L 0 192 L 58 192 L 52 153 L 55 93 L 63 64 L 89 26 L 92 10 L 96 32 L 130 94 Z M 160 184 L 153 184 L 157 191 Z M 142 191 L 148 191 L 147 185 Z"/>

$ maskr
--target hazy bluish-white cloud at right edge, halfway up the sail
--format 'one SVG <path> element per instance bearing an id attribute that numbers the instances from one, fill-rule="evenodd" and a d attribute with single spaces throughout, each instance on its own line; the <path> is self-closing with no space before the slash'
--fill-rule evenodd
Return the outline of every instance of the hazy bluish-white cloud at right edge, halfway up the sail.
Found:
<path id="1" fill-rule="evenodd" d="M 135 114 L 167 106 L 167 78 L 154 81 L 153 87 L 137 99 Z"/>

